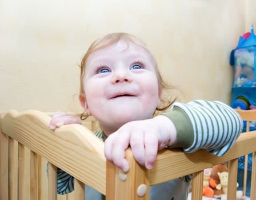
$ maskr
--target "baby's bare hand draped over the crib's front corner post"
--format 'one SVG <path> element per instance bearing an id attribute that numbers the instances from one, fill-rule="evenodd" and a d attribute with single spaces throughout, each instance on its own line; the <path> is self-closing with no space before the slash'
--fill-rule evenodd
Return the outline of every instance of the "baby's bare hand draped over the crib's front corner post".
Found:
<path id="1" fill-rule="evenodd" d="M 147 169 L 152 169 L 158 150 L 173 145 L 176 135 L 173 122 L 163 115 L 129 122 L 106 139 L 105 156 L 121 170 L 128 171 L 125 150 L 130 145 L 136 161 Z"/>

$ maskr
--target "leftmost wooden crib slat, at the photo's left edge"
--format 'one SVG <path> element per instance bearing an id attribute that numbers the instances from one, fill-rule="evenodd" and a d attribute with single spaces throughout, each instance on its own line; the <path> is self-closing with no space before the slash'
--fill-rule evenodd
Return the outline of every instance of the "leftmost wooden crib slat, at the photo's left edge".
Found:
<path id="1" fill-rule="evenodd" d="M 1 124 L 1 123 L 0 123 Z M 2 133 L 0 125 L 0 199 L 8 199 L 8 135 Z"/>

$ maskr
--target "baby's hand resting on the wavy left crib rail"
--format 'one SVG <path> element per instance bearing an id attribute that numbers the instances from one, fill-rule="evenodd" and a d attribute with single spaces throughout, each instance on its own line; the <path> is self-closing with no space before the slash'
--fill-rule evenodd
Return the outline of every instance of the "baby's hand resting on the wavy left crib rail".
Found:
<path id="1" fill-rule="evenodd" d="M 51 121 L 49 123 L 49 128 L 51 130 L 55 130 L 58 127 L 61 127 L 63 125 L 69 125 L 71 123 L 81 124 L 81 122 L 75 117 L 67 113 L 57 112 L 52 115 Z"/>

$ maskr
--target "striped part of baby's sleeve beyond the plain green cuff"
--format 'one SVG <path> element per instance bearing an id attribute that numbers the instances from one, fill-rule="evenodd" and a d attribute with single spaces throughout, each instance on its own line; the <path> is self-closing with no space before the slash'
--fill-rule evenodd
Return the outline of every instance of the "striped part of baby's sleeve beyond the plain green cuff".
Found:
<path id="1" fill-rule="evenodd" d="M 172 110 L 177 108 L 185 113 L 193 127 L 193 135 L 186 137 L 193 140 L 187 142 L 190 145 L 184 148 L 185 152 L 206 149 L 214 155 L 222 156 L 234 145 L 242 132 L 243 121 L 240 115 L 225 103 L 202 100 L 187 104 L 174 103 Z M 177 131 L 177 138 L 178 134 L 183 133 Z"/>

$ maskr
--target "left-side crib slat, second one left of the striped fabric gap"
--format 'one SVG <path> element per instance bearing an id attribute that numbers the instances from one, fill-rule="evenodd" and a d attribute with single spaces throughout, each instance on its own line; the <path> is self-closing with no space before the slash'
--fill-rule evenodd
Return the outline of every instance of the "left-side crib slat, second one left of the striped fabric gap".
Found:
<path id="1" fill-rule="evenodd" d="M 30 151 L 30 199 L 38 199 L 38 156 Z"/>

